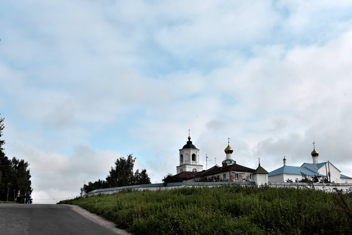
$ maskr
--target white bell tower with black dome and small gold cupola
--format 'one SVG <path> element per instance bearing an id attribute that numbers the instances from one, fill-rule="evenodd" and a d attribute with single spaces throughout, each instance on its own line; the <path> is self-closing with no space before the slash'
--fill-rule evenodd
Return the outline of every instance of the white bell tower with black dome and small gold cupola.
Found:
<path id="1" fill-rule="evenodd" d="M 189 131 L 190 130 L 188 130 L 188 141 L 182 149 L 179 149 L 180 165 L 176 167 L 176 174 L 184 171 L 203 171 L 203 166 L 199 164 L 199 149 L 192 144 Z"/>

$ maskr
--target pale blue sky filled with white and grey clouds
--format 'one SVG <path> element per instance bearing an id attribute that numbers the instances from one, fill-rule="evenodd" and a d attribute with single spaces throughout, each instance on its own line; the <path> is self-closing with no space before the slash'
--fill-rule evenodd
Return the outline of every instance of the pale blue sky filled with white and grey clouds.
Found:
<path id="1" fill-rule="evenodd" d="M 351 1 L 5 1 L 0 40 L 1 139 L 33 203 L 131 153 L 161 183 L 188 129 L 204 169 L 228 137 L 268 172 L 312 163 L 315 141 L 352 177 Z"/>

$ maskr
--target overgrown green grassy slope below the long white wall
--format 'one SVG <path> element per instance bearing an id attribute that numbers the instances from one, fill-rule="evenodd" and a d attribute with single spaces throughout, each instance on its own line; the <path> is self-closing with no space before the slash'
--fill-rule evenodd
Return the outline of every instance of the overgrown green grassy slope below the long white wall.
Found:
<path id="1" fill-rule="evenodd" d="M 251 186 L 121 191 L 80 205 L 135 234 L 351 234 L 352 194 Z"/>

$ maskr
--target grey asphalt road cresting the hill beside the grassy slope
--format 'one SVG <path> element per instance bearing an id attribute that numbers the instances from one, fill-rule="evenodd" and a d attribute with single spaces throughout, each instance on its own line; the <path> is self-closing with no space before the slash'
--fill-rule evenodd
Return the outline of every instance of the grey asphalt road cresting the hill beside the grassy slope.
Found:
<path id="1" fill-rule="evenodd" d="M 1 235 L 118 234 L 63 204 L 0 204 Z"/>

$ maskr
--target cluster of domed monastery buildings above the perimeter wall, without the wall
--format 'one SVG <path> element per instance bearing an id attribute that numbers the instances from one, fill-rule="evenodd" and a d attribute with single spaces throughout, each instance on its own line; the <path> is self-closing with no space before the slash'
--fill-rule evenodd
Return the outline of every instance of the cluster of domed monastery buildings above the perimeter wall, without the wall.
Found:
<path id="1" fill-rule="evenodd" d="M 352 178 L 342 175 L 341 171 L 331 162 L 319 163 L 319 152 L 315 150 L 315 142 L 313 142 L 313 146 L 314 149 L 311 153 L 312 163 L 305 162 L 301 166 L 287 166 L 286 158 L 284 157 L 283 166 L 268 173 L 260 166 L 260 163 L 257 169 L 238 165 L 233 160 L 233 149 L 230 146 L 229 140 L 228 146 L 224 150 L 226 159 L 222 161 L 222 166 L 215 165 L 207 170 L 203 170 L 203 165 L 200 165 L 199 160 L 199 149 L 195 147 L 190 135 L 188 135 L 187 143 L 182 149 L 179 149 L 180 165 L 176 167 L 176 175 L 174 176 L 182 178 L 183 182 L 199 181 L 201 177 L 216 177 L 220 181 L 256 182 L 255 174 L 266 174 L 264 180 L 266 183 L 279 183 L 289 180 L 298 182 L 302 179 L 302 173 L 304 173 L 307 176 L 320 176 L 320 179 L 327 178 L 332 183 L 352 183 Z"/>

